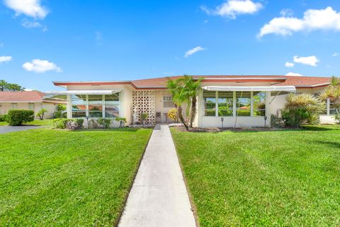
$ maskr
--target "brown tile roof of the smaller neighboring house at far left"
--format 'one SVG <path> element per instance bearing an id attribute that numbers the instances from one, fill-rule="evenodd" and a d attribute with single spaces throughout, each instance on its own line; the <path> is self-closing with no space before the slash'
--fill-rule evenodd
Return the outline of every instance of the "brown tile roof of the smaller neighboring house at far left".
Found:
<path id="1" fill-rule="evenodd" d="M 42 101 L 45 93 L 38 91 L 23 91 L 23 92 L 0 92 L 0 102 L 28 102 Z"/>

